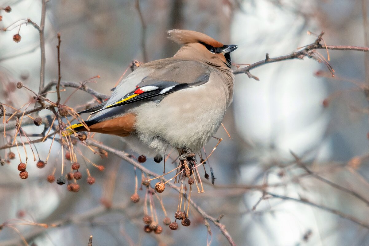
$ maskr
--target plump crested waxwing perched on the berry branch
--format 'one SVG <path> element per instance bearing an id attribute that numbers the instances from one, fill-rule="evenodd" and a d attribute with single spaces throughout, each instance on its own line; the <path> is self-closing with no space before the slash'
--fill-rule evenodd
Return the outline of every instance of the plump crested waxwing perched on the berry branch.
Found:
<path id="1" fill-rule="evenodd" d="M 79 112 L 93 117 L 66 134 L 88 130 L 121 136 L 157 163 L 170 150 L 193 156 L 210 140 L 233 99 L 230 53 L 238 46 L 197 31 L 167 32 L 182 45 L 176 54 L 138 66 L 108 100 Z"/>

